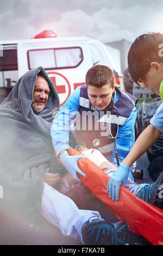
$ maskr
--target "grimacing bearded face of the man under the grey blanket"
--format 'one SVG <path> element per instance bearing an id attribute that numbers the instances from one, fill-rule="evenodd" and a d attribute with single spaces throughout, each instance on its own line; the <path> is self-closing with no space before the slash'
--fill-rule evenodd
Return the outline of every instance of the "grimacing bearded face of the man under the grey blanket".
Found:
<path id="1" fill-rule="evenodd" d="M 45 108 L 49 93 L 50 89 L 47 80 L 43 76 L 37 75 L 32 103 L 36 112 L 41 112 Z"/>

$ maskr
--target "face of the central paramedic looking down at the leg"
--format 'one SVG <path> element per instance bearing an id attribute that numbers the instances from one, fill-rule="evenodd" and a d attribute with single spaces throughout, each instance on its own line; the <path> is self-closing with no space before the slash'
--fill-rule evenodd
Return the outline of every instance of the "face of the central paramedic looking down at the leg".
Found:
<path id="1" fill-rule="evenodd" d="M 104 84 L 102 87 L 95 87 L 87 85 L 87 93 L 89 99 L 94 107 L 98 110 L 104 110 L 111 102 L 112 93 L 114 93 L 114 87 L 111 87 L 110 83 Z"/>

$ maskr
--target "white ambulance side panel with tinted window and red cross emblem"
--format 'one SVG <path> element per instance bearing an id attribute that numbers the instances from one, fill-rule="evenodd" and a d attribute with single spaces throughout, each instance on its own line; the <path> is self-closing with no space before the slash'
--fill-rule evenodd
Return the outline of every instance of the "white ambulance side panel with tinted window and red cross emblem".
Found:
<path id="1" fill-rule="evenodd" d="M 32 42 L 31 42 L 32 41 Z M 85 74 L 92 66 L 86 41 L 32 39 L 18 46 L 20 76 L 27 70 L 42 66 L 51 77 L 62 106 L 78 86 L 85 84 Z M 23 59 L 23 65 L 19 60 Z M 21 62 L 20 62 L 21 63 Z"/>

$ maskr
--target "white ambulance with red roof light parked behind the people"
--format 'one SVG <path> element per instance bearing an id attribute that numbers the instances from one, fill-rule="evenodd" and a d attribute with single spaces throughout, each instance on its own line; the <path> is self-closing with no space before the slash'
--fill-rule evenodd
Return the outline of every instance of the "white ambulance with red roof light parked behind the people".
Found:
<path id="1" fill-rule="evenodd" d="M 93 65 L 109 66 L 120 88 L 120 52 L 85 37 L 58 37 L 45 30 L 28 40 L 0 41 L 0 103 L 23 74 L 42 66 L 57 89 L 62 106 Z"/>

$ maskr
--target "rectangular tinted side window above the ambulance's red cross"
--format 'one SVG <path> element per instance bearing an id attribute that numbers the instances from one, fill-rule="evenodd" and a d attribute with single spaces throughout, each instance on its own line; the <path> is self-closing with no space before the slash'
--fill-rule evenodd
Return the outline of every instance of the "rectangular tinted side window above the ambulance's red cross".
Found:
<path id="1" fill-rule="evenodd" d="M 45 70 L 76 68 L 83 61 L 80 47 L 29 50 L 27 56 L 29 69 L 37 66 L 42 66 Z"/>

